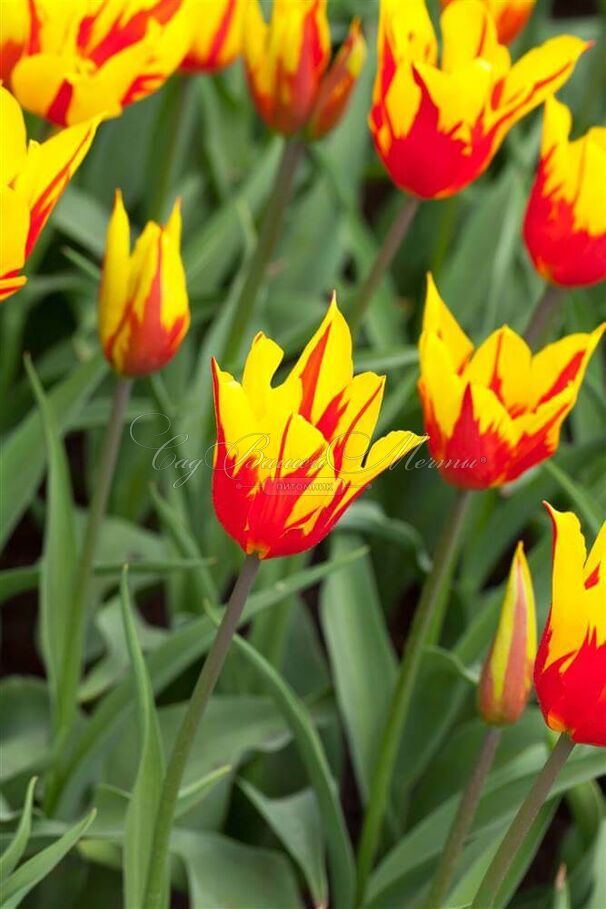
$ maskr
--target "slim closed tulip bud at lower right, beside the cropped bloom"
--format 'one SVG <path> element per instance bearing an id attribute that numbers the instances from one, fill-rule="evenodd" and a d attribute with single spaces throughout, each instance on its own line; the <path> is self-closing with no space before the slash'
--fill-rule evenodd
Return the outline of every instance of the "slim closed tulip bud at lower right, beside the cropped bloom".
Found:
<path id="1" fill-rule="evenodd" d="M 537 653 L 534 591 L 524 546 L 518 543 L 501 618 L 478 688 L 478 706 L 484 720 L 494 726 L 517 723 L 532 690 Z"/>

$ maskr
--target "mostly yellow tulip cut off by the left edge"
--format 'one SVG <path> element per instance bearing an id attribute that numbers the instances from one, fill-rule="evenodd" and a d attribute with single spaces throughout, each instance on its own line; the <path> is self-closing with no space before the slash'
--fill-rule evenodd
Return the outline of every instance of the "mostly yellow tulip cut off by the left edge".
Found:
<path id="1" fill-rule="evenodd" d="M 27 143 L 19 104 L 0 86 L 0 300 L 26 282 L 20 274 L 40 232 L 88 151 L 97 122 Z"/>

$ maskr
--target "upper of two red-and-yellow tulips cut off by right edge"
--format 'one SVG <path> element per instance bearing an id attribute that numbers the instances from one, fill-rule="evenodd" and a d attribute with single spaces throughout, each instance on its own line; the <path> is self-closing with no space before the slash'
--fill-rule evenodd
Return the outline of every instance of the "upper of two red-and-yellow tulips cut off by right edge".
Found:
<path id="1" fill-rule="evenodd" d="M 580 287 L 606 278 L 606 127 L 570 142 L 571 124 L 566 105 L 548 99 L 524 240 L 546 281 Z"/>

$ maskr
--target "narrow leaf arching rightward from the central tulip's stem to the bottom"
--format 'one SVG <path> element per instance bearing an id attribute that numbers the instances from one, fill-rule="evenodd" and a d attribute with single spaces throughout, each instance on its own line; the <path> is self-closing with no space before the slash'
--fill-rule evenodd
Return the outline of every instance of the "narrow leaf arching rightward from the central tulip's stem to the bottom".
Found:
<path id="1" fill-rule="evenodd" d="M 290 727 L 318 799 L 330 857 L 335 909 L 350 909 L 353 905 L 355 884 L 353 851 L 338 791 L 318 733 L 302 702 L 271 663 L 239 635 L 235 635 L 233 643 L 246 661 L 257 670 Z"/>

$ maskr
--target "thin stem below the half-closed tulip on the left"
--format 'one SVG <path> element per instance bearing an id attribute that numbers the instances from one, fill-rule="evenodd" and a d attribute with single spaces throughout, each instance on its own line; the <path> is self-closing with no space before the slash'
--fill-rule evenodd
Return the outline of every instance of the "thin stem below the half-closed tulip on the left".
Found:
<path id="1" fill-rule="evenodd" d="M 80 560 L 74 579 L 71 619 L 65 629 L 67 638 L 65 642 L 65 660 L 57 703 L 55 746 L 59 752 L 63 750 L 76 718 L 78 683 L 82 668 L 83 639 L 86 627 L 86 608 L 93 575 L 93 559 L 118 459 L 124 416 L 131 388 L 132 381 L 130 379 L 118 379 L 114 389 L 109 424 L 99 463 L 99 472 L 88 511 Z M 56 804 L 58 796 L 57 781 L 53 779 L 52 775 L 47 789 L 47 808 L 50 811 Z"/>

